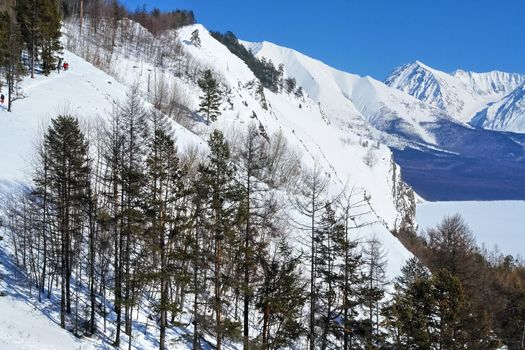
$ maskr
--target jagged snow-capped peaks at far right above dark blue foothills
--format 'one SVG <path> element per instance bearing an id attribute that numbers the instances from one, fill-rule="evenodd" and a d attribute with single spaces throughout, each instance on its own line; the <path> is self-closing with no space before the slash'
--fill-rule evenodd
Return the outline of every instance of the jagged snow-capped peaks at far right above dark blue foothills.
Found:
<path id="1" fill-rule="evenodd" d="M 525 74 L 449 74 L 416 61 L 396 68 L 385 83 L 473 126 L 525 132 Z"/>

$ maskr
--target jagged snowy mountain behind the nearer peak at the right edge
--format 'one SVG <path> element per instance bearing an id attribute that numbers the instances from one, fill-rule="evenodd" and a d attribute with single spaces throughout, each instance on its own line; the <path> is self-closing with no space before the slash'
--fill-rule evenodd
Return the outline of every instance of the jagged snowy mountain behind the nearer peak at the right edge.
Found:
<path id="1" fill-rule="evenodd" d="M 462 122 L 501 100 L 525 82 L 525 75 L 499 71 L 452 74 L 419 61 L 396 68 L 385 83 L 436 106 Z"/>

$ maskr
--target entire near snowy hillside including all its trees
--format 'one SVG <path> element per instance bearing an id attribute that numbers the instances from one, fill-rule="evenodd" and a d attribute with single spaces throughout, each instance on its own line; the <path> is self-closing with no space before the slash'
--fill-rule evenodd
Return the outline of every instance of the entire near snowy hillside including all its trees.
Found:
<path id="1" fill-rule="evenodd" d="M 523 261 L 417 235 L 377 96 L 192 11 L 0 10 L 0 348 L 525 348 Z"/>

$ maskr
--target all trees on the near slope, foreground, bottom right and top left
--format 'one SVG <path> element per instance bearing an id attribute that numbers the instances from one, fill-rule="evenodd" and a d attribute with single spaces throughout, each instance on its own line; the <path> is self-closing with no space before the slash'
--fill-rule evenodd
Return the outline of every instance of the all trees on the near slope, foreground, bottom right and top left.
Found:
<path id="1" fill-rule="evenodd" d="M 6 10 L 2 22 L 18 41 L 1 51 L 8 82 L 20 68 L 13 91 L 24 74 L 51 74 L 62 50 L 56 31 L 24 39 L 22 12 Z M 108 42 L 125 17 L 152 35 L 194 21 L 189 11 L 129 13 L 101 1 L 67 1 L 56 14 Z M 49 23 L 60 33 L 59 21 Z M 182 66 L 202 90 L 198 114 L 220 118 L 215 72 Z M 354 239 L 354 212 L 370 210 L 366 194 L 333 196 L 321 169 L 305 170 L 282 135 L 255 123 L 236 142 L 216 130 L 208 152 L 182 154 L 170 118 L 180 101 L 155 97 L 148 107 L 132 86 L 92 129 L 72 115 L 54 118 L 37 142 L 32 181 L 4 198 L 4 242 L 38 299 L 57 293 L 63 328 L 96 336 L 114 321 L 113 344 L 131 344 L 133 315 L 147 308 L 160 349 L 175 327 L 191 329 L 195 349 L 523 348 L 523 263 L 480 251 L 461 218 L 428 239 L 410 227 L 396 232 L 426 267 L 411 259 L 391 283 L 381 245 Z M 287 197 L 303 220 L 286 215 Z M 294 226 L 307 250 L 294 249 Z"/>

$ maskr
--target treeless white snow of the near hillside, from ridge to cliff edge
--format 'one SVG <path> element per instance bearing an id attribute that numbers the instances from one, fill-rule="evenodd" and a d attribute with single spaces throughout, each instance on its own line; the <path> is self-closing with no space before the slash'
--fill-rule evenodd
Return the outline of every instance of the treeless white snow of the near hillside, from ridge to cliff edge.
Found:
<path id="1" fill-rule="evenodd" d="M 122 30 L 122 33 L 129 34 L 130 31 L 135 31 L 137 36 L 144 35 L 155 40 L 152 42 L 154 45 L 159 47 L 162 45 L 162 39 L 153 39 L 143 28 L 134 23 L 126 22 L 123 26 L 126 26 L 126 29 Z M 200 34 L 200 47 L 189 42 L 191 33 L 195 30 Z M 165 35 L 174 36 L 174 33 Z M 75 36 L 78 36 L 75 27 L 68 27 L 64 38 L 66 47 L 93 58 L 88 53 L 93 53 L 90 50 L 96 48 L 96 41 L 75 40 Z M 148 56 L 141 56 L 138 51 L 129 49 L 126 46 L 129 45 L 129 40 L 122 36 L 116 45 L 116 50 L 111 54 L 99 51 L 101 55 L 109 54 L 111 62 L 118 62 L 104 67 L 111 74 L 104 73 L 71 51 L 64 50 L 64 60 L 70 67 L 68 71 L 52 72 L 49 77 L 37 75 L 35 79 L 24 79 L 21 83 L 24 97 L 14 102 L 13 112 L 2 112 L 0 118 L 2 168 L 0 182 L 5 201 L 10 201 L 11 195 L 18 192 L 20 185 L 25 186 L 31 182 L 35 143 L 39 138 L 41 139 L 51 118 L 59 114 L 71 114 L 81 120 L 88 134 L 96 133 L 94 127 L 107 123 L 116 107 L 115 104 L 121 104 L 128 98 L 126 94 L 132 86 L 139 87 L 141 91 L 139 98 L 147 108 L 151 108 L 150 102 L 155 102 L 154 99 L 158 97 L 156 94 L 160 93 L 160 89 L 169 90 L 176 87 L 179 97 L 183 96 L 184 101 L 183 106 L 178 106 L 178 111 L 183 116 L 179 115 L 177 118 L 181 118 L 179 121 L 191 129 L 183 127 L 173 119 L 165 118 L 176 139 L 178 152 L 184 155 L 186 150 L 190 152 L 197 149 L 199 152 L 207 153 L 206 140 L 215 128 L 223 130 L 227 137 L 235 140 L 250 124 L 255 124 L 259 130 L 264 131 L 264 134 L 269 135 L 270 143 L 276 133 L 282 133 L 290 147 L 301 155 L 302 166 L 305 169 L 317 166 L 330 179 L 330 195 L 345 190 L 347 194 L 351 192 L 358 197 L 356 201 L 364 203 L 364 208 L 356 208 L 354 224 L 363 227 L 355 233 L 355 239 L 363 244 L 368 244 L 372 239 L 381 242 L 386 254 L 387 278 L 390 280 L 399 274 L 402 264 L 411 257 L 411 254 L 390 230 L 399 227 L 403 218 L 410 218 L 410 215 L 413 215 L 414 197 L 410 189 L 401 182 L 399 167 L 392 161 L 392 154 L 388 147 L 370 138 L 370 133 L 373 132 L 371 129 L 341 128 L 338 123 L 327 119 L 325 112 L 308 96 L 297 97 L 282 92 L 273 93 L 265 89 L 261 98 L 260 94 L 254 92 L 255 77 L 246 65 L 213 39 L 203 26 L 194 25 L 184 27 L 177 32 L 176 40 L 181 45 L 184 58 L 186 62 L 192 64 L 192 67 L 185 68 L 186 72 L 211 68 L 220 76 L 221 86 L 227 91 L 227 103 L 221 106 L 220 119 L 207 126 L 203 123 L 203 119 L 193 112 L 197 109 L 200 91 L 191 75 L 179 76 L 174 73 L 173 68 L 176 67 L 177 62 L 169 56 L 162 66 L 155 64 Z M 74 43 L 76 45 L 73 45 Z M 84 44 L 80 46 L 79 43 Z M 166 84 L 163 88 L 160 87 L 161 82 Z M 365 125 L 364 121 L 360 123 Z M 287 216 L 294 217 L 297 221 L 304 220 L 290 205 L 291 199 L 297 197 L 296 193 L 285 192 L 276 195 L 288 198 L 285 201 L 288 207 Z M 3 242 L 13 243 L 9 234 L 6 238 L 8 239 Z M 295 229 L 288 239 L 293 243 L 296 252 L 303 250 L 307 244 L 305 232 L 299 229 Z M 3 245 L 2 254 L 4 257 L 2 264 L 6 268 L 5 266 L 12 264 L 14 252 L 7 248 L 7 245 Z M 16 268 L 11 266 L 5 273 L 13 274 L 15 271 Z M 7 283 L 3 285 L 6 290 L 14 288 L 14 283 L 27 283 L 23 278 L 4 278 L 3 281 Z M 81 284 L 87 283 L 78 279 L 77 281 Z M 12 329 L 12 333 L 7 333 L 6 338 L 2 338 L 8 346 L 13 344 L 15 337 L 13 333 L 19 332 L 21 327 L 18 320 L 35 312 L 30 311 L 31 297 L 28 293 L 27 289 L 20 288 L 17 294 L 2 300 L 10 305 L 9 312 L 0 315 L 0 323 Z M 53 312 L 47 313 L 44 317 L 36 317 L 35 327 L 49 328 L 52 334 L 56 333 L 56 341 L 59 341 L 65 349 L 67 344 L 71 344 L 71 348 L 82 346 L 88 349 L 90 346 L 94 348 L 107 346 L 107 338 L 114 336 L 114 325 L 111 323 L 114 319 L 113 312 L 109 314 L 107 330 L 100 337 L 96 337 L 93 341 L 78 341 L 65 331 L 57 330 L 58 326 L 54 323 L 59 322 L 56 305 L 59 296 L 55 295 L 54 298 L 56 298 L 55 303 L 46 304 Z M 99 302 L 101 302 L 100 298 L 101 296 L 97 297 Z M 81 303 L 87 307 L 87 299 Z M 111 305 L 108 305 L 109 308 Z M 191 334 L 192 331 L 191 327 L 188 327 L 188 314 L 189 310 L 183 310 L 179 318 L 179 322 L 185 326 L 174 327 L 168 332 L 168 341 L 174 341 L 174 344 L 179 344 L 178 346 L 182 348 L 189 348 L 189 345 L 184 345 L 183 336 Z M 143 324 L 147 325 L 149 322 L 147 309 L 138 311 L 137 317 L 139 322 L 134 328 L 134 333 L 138 335 L 132 339 L 133 347 L 137 349 L 156 347 L 157 328 L 153 327 L 151 330 L 143 328 Z M 101 322 L 101 319 L 97 321 L 97 328 L 102 327 Z M 48 342 L 48 338 L 40 337 L 38 334 L 34 334 L 34 343 Z M 210 339 L 209 336 L 206 338 Z M 122 341 L 126 342 L 126 336 L 123 336 Z M 209 341 L 213 343 L 213 340 Z M 30 343 L 26 345 L 31 346 Z"/>

